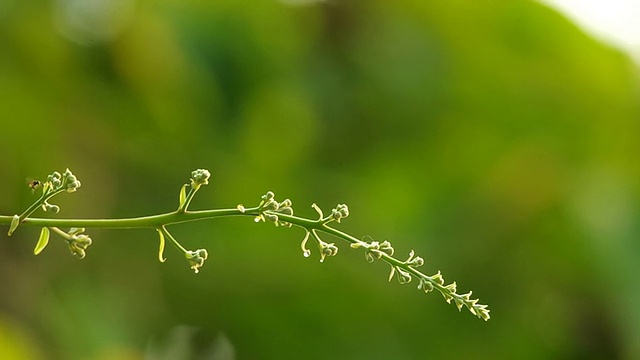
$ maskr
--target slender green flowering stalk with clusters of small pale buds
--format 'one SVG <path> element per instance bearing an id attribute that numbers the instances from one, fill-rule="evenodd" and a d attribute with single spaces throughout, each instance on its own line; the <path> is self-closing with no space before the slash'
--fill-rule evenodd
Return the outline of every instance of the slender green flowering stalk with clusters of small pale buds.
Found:
<path id="1" fill-rule="evenodd" d="M 296 226 L 304 229 L 305 235 L 300 244 L 302 253 L 305 257 L 311 255 L 311 250 L 307 248 L 307 243 L 311 239 L 318 246 L 320 262 L 324 262 L 328 257 L 338 254 L 338 247 L 335 243 L 328 243 L 322 240 L 320 237 L 322 233 L 345 240 L 350 244 L 352 249 L 364 249 L 364 256 L 368 262 L 380 260 L 387 263 L 390 266 L 389 281 L 397 277 L 401 284 L 407 284 L 416 278 L 418 281 L 418 289 L 423 290 L 425 293 L 437 290 L 442 294 L 447 303 L 453 301 L 458 310 L 466 307 L 473 315 L 483 320 L 489 320 L 490 316 L 487 305 L 479 304 L 477 299 L 472 299 L 471 292 L 458 294 L 456 282 L 445 285 L 444 278 L 439 271 L 434 275 L 427 275 L 417 270 L 416 268 L 424 265 L 424 259 L 416 256 L 413 250 L 409 252 L 408 258 L 402 261 L 393 257 L 395 250 L 388 241 L 378 242 L 373 239 L 370 239 L 371 241 L 360 240 L 330 226 L 330 224 L 334 222 L 340 223 L 342 219 L 349 216 L 349 208 L 345 204 L 338 204 L 331 210 L 331 213 L 326 216 L 316 204 L 312 204 L 312 208 L 318 213 L 318 218 L 315 220 L 307 219 L 293 214 L 291 200 L 285 199 L 279 202 L 275 199 L 275 194 L 269 191 L 261 197 L 260 203 L 255 207 L 247 208 L 243 205 L 238 205 L 231 209 L 189 211 L 188 207 L 191 200 L 202 185 L 209 183 L 210 176 L 211 174 L 207 170 L 194 170 L 191 173 L 190 182 L 183 185 L 180 189 L 178 208 L 163 214 L 123 219 L 52 219 L 30 217 L 38 208 L 42 208 L 44 211 L 58 213 L 60 208 L 57 205 L 49 204 L 48 201 L 63 192 L 73 193 L 81 186 L 80 181 L 78 181 L 69 169 L 63 174 L 54 172 L 42 183 L 42 194 L 38 200 L 20 215 L 0 215 L 0 225 L 9 225 L 9 236 L 11 236 L 19 225 L 41 226 L 42 231 L 34 249 L 36 255 L 42 252 L 48 245 L 50 232 L 54 232 L 65 240 L 71 253 L 80 259 L 86 256 L 87 248 L 92 244 L 92 239 L 84 234 L 85 228 L 155 229 L 160 239 L 158 259 L 161 262 L 166 260 L 164 257 L 165 241 L 169 240 L 171 244 L 183 254 L 191 269 L 198 273 L 209 256 L 207 251 L 205 249 L 188 250 L 184 248 L 167 230 L 167 226 L 226 216 L 250 216 L 253 217 L 255 222 L 270 222 L 276 226 Z M 35 186 L 31 187 L 35 188 Z M 67 227 L 70 228 L 70 230 L 64 231 L 60 229 Z"/>

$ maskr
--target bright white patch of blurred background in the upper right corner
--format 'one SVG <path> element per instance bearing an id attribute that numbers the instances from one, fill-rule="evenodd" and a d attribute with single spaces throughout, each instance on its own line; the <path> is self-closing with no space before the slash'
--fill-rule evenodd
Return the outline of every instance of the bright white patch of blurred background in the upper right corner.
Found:
<path id="1" fill-rule="evenodd" d="M 640 0 L 539 0 L 640 62 Z"/>

